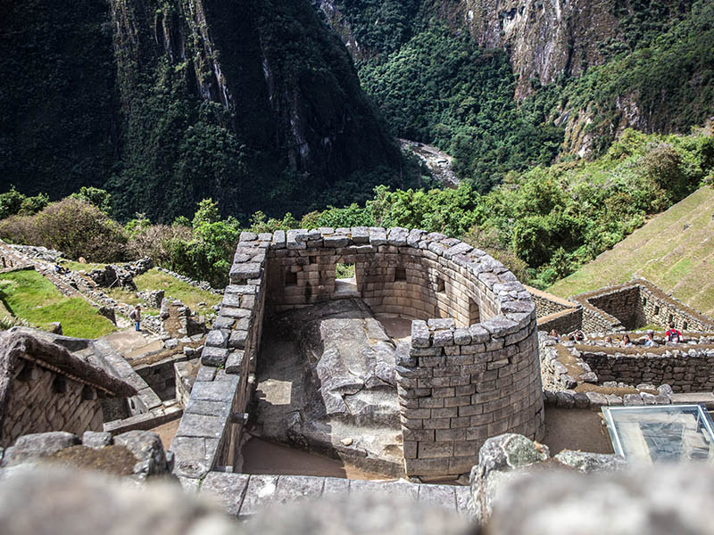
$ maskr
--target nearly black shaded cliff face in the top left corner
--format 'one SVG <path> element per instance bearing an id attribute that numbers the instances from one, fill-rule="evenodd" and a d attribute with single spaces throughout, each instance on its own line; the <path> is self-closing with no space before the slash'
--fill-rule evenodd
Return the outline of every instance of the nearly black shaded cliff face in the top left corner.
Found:
<path id="1" fill-rule="evenodd" d="M 0 2 L 0 188 L 103 185 L 117 144 L 107 5 Z"/>

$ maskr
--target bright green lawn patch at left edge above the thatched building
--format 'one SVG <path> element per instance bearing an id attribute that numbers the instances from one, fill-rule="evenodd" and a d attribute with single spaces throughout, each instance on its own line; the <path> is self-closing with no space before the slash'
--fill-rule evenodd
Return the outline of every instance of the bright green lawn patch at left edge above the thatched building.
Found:
<path id="1" fill-rule="evenodd" d="M 86 300 L 67 298 L 36 271 L 15 271 L 0 276 L 0 298 L 15 317 L 46 329 L 54 321 L 62 324 L 62 333 L 78 338 L 98 338 L 116 327 L 100 316 Z"/>

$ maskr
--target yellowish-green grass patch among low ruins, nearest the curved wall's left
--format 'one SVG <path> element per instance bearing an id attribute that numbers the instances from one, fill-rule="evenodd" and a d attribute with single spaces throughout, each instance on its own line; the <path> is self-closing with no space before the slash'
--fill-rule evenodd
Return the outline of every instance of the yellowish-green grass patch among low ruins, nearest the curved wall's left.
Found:
<path id="1" fill-rule="evenodd" d="M 137 284 L 137 290 L 141 291 L 163 290 L 166 297 L 181 300 L 191 310 L 199 314 L 210 312 L 211 307 L 220 303 L 222 299 L 220 295 L 206 292 L 191 284 L 181 282 L 177 278 L 166 275 L 157 269 L 151 269 L 143 275 L 134 277 L 134 283 Z M 109 290 L 107 293 L 111 295 L 113 299 L 120 300 L 129 305 L 136 305 L 141 302 L 135 292 L 126 292 L 120 288 L 112 288 L 112 290 Z M 198 303 L 201 302 L 206 304 L 199 307 Z M 145 312 L 155 314 L 158 313 L 158 310 L 146 309 Z"/>

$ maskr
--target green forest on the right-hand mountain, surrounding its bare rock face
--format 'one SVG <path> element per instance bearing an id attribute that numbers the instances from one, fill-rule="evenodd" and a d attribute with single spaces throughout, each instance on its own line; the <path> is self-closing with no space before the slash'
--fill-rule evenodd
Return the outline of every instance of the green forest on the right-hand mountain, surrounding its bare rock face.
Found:
<path id="1" fill-rule="evenodd" d="M 481 193 L 509 171 L 567 159 L 585 138 L 604 153 L 627 119 L 685 133 L 714 114 L 714 4 L 705 0 L 617 0 L 617 37 L 599 43 L 603 64 L 547 86 L 532 80 L 520 103 L 508 52 L 479 49 L 446 3 L 336 4 L 367 49 L 357 62 L 362 85 L 394 135 L 450 152 Z"/>

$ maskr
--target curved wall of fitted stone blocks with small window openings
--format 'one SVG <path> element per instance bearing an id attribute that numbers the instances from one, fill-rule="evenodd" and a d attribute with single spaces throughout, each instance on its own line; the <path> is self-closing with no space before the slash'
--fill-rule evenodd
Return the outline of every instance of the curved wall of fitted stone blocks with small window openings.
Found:
<path id="1" fill-rule="evenodd" d="M 354 265 L 353 284 L 336 281 L 337 263 Z M 407 475 L 468 473 L 483 442 L 502 432 L 542 438 L 535 304 L 485 252 L 405 228 L 243 233 L 230 279 L 202 362 L 239 375 L 232 382 L 235 396 L 225 400 L 234 416 L 219 440 L 205 437 L 203 446 L 211 439 L 220 454 L 212 461 L 206 454 L 203 462 L 230 464 L 230 444 L 238 442 L 241 425 L 235 415 L 249 398 L 246 375 L 257 355 L 263 303 L 268 311 L 281 311 L 353 295 L 374 312 L 414 320 L 411 346 L 397 362 Z M 199 385 L 202 396 L 209 390 L 225 388 Z M 187 414 L 192 412 L 189 401 Z M 195 424 L 187 427 L 199 426 L 198 416 L 190 416 Z M 176 440 L 180 444 L 191 432 L 179 427 Z"/>

